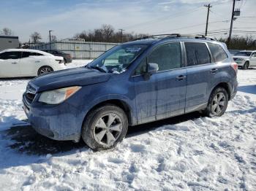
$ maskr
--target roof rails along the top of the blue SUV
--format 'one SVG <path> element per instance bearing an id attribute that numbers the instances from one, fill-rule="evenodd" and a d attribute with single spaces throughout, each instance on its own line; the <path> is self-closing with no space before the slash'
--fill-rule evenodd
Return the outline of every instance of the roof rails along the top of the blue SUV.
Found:
<path id="1" fill-rule="evenodd" d="M 160 38 L 158 36 L 165 36 L 163 38 Z M 157 34 L 157 35 L 151 35 L 151 36 L 143 36 L 141 38 L 138 39 L 134 39 L 133 41 L 136 40 L 141 40 L 141 39 L 154 39 L 158 37 L 158 39 L 169 39 L 169 38 L 178 38 L 178 37 L 183 37 L 183 38 L 195 38 L 195 39 L 210 39 L 212 41 L 216 41 L 216 39 L 210 37 L 210 36 L 204 36 L 202 34 L 197 34 L 197 35 L 181 35 L 181 34 Z"/>

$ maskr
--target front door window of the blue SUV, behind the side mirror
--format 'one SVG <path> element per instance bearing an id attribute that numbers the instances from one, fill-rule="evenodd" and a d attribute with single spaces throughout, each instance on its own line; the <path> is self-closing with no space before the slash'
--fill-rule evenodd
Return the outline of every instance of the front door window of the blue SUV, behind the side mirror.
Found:
<path id="1" fill-rule="evenodd" d="M 148 63 L 157 63 L 159 71 L 181 67 L 181 46 L 178 42 L 162 44 L 148 57 Z"/>

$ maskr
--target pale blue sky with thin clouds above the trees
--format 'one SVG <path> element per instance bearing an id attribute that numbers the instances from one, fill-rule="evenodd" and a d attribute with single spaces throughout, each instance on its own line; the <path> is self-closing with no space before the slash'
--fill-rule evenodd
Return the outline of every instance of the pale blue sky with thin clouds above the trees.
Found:
<path id="1" fill-rule="evenodd" d="M 211 36 L 227 36 L 231 0 L 1 0 L 0 29 L 11 28 L 21 42 L 28 41 L 34 31 L 47 41 L 48 30 L 64 39 L 102 24 L 110 24 L 116 30 L 124 28 L 125 32 L 195 34 L 205 30 L 203 5 L 208 3 L 213 5 L 208 28 Z M 235 21 L 234 30 L 256 31 L 256 1 L 236 4 L 241 8 L 241 17 Z M 219 30 L 223 33 L 217 34 Z"/>

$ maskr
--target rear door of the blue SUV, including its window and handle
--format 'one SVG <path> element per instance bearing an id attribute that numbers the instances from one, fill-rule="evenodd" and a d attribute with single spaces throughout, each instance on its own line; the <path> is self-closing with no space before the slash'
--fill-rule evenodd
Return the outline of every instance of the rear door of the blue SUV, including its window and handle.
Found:
<path id="1" fill-rule="evenodd" d="M 218 69 L 205 42 L 184 42 L 184 48 L 187 55 L 185 112 L 192 112 L 207 105 L 211 79 L 218 73 Z"/>

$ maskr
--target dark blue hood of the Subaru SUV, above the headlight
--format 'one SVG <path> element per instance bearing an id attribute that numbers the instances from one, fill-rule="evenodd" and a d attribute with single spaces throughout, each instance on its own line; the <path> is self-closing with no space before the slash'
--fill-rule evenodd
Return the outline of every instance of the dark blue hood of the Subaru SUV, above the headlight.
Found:
<path id="1" fill-rule="evenodd" d="M 92 85 L 100 82 L 106 82 L 110 79 L 110 73 L 103 73 L 94 69 L 80 67 L 75 69 L 66 69 L 54 71 L 32 79 L 29 85 L 34 87 L 37 92 L 53 90 L 61 87 L 74 85 Z"/>

